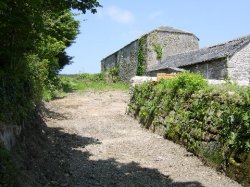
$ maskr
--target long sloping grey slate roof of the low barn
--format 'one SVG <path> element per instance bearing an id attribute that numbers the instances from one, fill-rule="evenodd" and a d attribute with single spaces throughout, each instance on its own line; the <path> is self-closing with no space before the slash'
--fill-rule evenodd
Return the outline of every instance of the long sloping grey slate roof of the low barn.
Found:
<path id="1" fill-rule="evenodd" d="M 192 64 L 230 57 L 237 51 L 242 49 L 249 42 L 250 35 L 247 35 L 235 40 L 228 41 L 226 43 L 169 56 L 164 62 L 151 67 L 148 71 L 156 71 L 160 69 L 166 69 L 168 67 L 181 68 Z"/>

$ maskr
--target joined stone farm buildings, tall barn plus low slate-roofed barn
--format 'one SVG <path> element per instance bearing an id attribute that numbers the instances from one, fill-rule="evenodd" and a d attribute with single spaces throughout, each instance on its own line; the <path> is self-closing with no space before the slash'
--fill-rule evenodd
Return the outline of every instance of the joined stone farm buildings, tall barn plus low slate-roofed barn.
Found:
<path id="1" fill-rule="evenodd" d="M 145 37 L 145 74 L 173 73 L 183 70 L 200 72 L 206 79 L 250 82 L 250 35 L 215 46 L 199 49 L 192 33 L 160 27 Z M 119 68 L 122 80 L 136 75 L 139 39 L 102 60 L 102 71 Z M 157 58 L 156 46 L 162 49 Z"/>

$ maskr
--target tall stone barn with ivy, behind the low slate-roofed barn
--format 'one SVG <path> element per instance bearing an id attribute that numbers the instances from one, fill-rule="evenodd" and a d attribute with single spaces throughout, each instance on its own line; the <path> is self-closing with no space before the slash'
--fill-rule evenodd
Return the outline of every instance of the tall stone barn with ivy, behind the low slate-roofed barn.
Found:
<path id="1" fill-rule="evenodd" d="M 171 27 L 159 27 L 132 41 L 101 61 L 102 72 L 117 67 L 122 80 L 136 75 L 139 51 L 143 53 L 145 72 L 164 62 L 168 56 L 199 49 L 199 39 L 192 33 Z"/>

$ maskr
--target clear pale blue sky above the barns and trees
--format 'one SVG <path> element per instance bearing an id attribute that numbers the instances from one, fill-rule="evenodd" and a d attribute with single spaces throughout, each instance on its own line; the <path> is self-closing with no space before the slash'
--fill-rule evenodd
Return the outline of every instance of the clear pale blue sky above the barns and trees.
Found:
<path id="1" fill-rule="evenodd" d="M 97 14 L 77 16 L 80 34 L 61 73 L 99 73 L 100 61 L 159 26 L 194 33 L 200 47 L 250 34 L 249 0 L 99 0 Z"/>

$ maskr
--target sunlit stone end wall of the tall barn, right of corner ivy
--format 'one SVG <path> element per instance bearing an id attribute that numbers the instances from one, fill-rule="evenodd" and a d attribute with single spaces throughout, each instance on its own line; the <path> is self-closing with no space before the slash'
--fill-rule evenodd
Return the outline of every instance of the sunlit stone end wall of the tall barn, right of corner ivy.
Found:
<path id="1" fill-rule="evenodd" d="M 162 48 L 162 58 L 157 59 L 155 45 Z M 147 68 L 167 59 L 168 56 L 199 49 L 199 39 L 188 33 L 154 31 L 147 36 Z"/>

